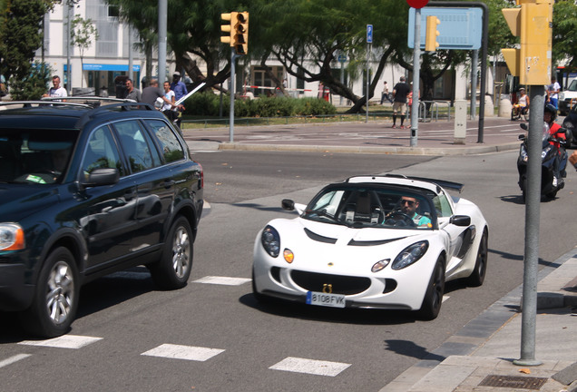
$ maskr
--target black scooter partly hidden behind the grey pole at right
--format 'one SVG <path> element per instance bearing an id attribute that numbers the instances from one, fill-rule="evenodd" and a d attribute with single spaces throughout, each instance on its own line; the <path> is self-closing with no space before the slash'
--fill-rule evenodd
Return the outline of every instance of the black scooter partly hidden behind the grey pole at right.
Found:
<path id="1" fill-rule="evenodd" d="M 521 128 L 525 131 L 528 129 L 526 123 L 522 123 Z M 566 140 L 558 137 L 559 134 L 565 134 L 566 130 L 560 128 L 554 134 L 549 133 L 549 126 L 543 124 L 543 150 L 541 153 L 541 196 L 549 199 L 554 199 L 557 192 L 562 190 L 565 186 L 563 178 L 567 176 L 565 167 L 567 166 L 567 152 L 564 146 Z M 528 140 L 524 134 L 519 135 L 519 140 L 522 141 L 519 149 L 519 158 L 517 159 L 517 171 L 519 171 L 519 187 L 522 191 L 523 203 L 525 202 L 527 192 L 527 159 L 528 159 Z M 555 147 L 550 142 L 558 142 L 561 148 Z M 559 173 L 555 175 L 555 166 L 558 165 Z"/>

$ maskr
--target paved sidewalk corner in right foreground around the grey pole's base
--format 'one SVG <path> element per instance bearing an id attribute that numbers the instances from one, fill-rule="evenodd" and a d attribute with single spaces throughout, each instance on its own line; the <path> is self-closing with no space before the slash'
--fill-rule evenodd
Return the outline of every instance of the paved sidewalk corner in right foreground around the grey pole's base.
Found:
<path id="1" fill-rule="evenodd" d="M 542 365 L 513 364 L 521 356 L 519 286 L 380 392 L 577 391 L 575 277 L 577 249 L 539 272 L 535 359 Z"/>

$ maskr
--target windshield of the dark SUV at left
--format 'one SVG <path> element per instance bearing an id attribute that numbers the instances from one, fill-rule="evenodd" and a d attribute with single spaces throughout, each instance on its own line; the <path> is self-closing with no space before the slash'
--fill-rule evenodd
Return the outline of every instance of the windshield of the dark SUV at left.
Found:
<path id="1" fill-rule="evenodd" d="M 77 132 L 0 129 L 0 182 L 62 181 Z"/>

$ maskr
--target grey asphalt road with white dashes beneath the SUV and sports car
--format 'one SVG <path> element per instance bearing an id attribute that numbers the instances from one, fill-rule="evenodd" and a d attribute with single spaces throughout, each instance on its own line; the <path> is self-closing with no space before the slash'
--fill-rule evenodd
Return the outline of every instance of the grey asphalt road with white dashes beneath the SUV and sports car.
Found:
<path id="1" fill-rule="evenodd" d="M 26 342 L 11 315 L 0 314 L 5 386 L 377 391 L 523 280 L 524 205 L 516 152 L 437 158 L 198 152 L 194 158 L 205 170 L 210 211 L 200 222 L 191 283 L 157 291 L 144 269 L 94 281 L 83 289 L 72 336 L 64 341 L 73 344 L 78 337 L 85 343 L 80 348 L 30 345 L 44 342 Z M 387 171 L 465 183 L 462 196 L 477 203 L 490 224 L 484 286 L 448 284 L 439 318 L 428 322 L 401 311 L 259 305 L 249 282 L 252 246 L 268 220 L 290 216 L 280 209 L 281 199 L 307 202 L 328 181 Z M 543 265 L 575 245 L 576 176 L 569 172 L 558 198 L 541 204 Z"/>

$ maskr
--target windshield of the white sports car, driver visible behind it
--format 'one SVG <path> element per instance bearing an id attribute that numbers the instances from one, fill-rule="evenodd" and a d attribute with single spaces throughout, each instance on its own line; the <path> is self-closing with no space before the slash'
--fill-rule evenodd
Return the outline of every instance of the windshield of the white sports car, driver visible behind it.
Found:
<path id="1" fill-rule="evenodd" d="M 355 228 L 433 230 L 432 196 L 411 188 L 333 185 L 318 193 L 302 217 Z"/>

